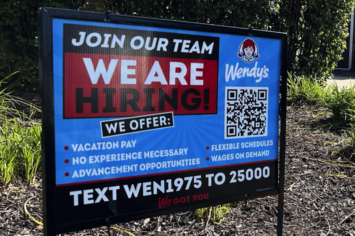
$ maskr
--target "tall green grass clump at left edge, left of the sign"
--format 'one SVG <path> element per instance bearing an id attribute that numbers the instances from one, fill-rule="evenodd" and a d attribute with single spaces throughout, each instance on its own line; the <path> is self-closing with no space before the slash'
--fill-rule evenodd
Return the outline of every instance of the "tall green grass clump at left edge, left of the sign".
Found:
<path id="1" fill-rule="evenodd" d="M 0 92 L 0 182 L 7 185 L 20 177 L 33 184 L 40 170 L 42 131 L 33 117 L 40 110 L 4 91 Z M 18 103 L 29 106 L 29 114 L 16 111 L 13 105 Z"/>

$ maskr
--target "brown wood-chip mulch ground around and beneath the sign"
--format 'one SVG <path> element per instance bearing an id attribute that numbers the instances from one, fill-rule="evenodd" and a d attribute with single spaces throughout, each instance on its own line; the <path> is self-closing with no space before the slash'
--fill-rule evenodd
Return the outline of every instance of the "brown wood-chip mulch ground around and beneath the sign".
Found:
<path id="1" fill-rule="evenodd" d="M 331 113 L 323 107 L 288 106 L 283 235 L 355 236 L 355 158 L 339 130 L 324 130 Z M 31 198 L 33 197 L 33 198 Z M 28 186 L 18 179 L 0 186 L 0 235 L 43 235 L 42 181 Z M 187 215 L 164 215 L 113 225 L 134 235 L 276 235 L 277 196 L 231 204 L 223 223 Z M 70 236 L 104 236 L 106 228 Z M 111 235 L 129 235 L 117 229 Z"/>

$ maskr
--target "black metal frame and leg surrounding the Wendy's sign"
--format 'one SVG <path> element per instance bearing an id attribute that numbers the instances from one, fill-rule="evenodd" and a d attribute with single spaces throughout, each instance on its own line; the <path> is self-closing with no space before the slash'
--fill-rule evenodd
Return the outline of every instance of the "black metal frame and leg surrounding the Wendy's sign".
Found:
<path id="1" fill-rule="evenodd" d="M 285 172 L 285 132 L 286 132 L 286 62 L 287 62 L 287 34 L 278 32 L 267 32 L 263 30 L 251 30 L 244 28 L 215 26 L 209 24 L 178 22 L 162 19 L 143 17 L 109 15 L 106 13 L 94 13 L 86 11 L 73 11 L 54 8 L 41 8 L 38 11 L 38 34 L 39 34 L 39 77 L 40 91 L 42 98 L 42 178 L 43 178 L 43 223 L 44 235 L 54 236 L 69 231 L 83 230 L 97 226 L 107 225 L 107 218 L 93 219 L 78 223 L 58 225 L 57 215 L 57 187 L 55 181 L 55 129 L 54 129 L 54 72 L 53 72 L 53 18 L 74 19 L 80 21 L 110 22 L 119 24 L 131 24 L 137 26 L 150 26 L 157 28 L 174 28 L 195 30 L 202 32 L 238 34 L 282 40 L 281 55 L 281 82 L 280 82 L 280 141 L 279 141 L 279 178 L 278 189 L 247 194 L 247 199 L 277 195 L 278 194 L 278 226 L 277 235 L 282 236 L 283 226 L 283 198 L 284 198 L 284 172 Z M 275 167 L 277 169 L 277 166 Z M 139 212 L 136 214 L 119 215 L 110 217 L 111 224 L 130 221 L 146 217 L 153 217 L 162 214 L 170 214 L 176 211 L 197 209 L 210 205 L 223 204 L 228 202 L 243 201 L 246 195 L 230 196 L 218 200 L 207 200 L 202 202 L 182 205 L 178 208 L 163 208 L 154 211 Z"/>

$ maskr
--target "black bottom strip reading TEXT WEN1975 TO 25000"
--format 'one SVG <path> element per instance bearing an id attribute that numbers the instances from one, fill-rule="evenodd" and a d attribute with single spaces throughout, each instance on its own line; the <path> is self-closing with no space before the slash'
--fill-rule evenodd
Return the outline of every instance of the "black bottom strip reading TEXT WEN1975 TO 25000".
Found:
<path id="1" fill-rule="evenodd" d="M 275 195 L 276 173 L 268 161 L 56 187 L 58 234 Z"/>

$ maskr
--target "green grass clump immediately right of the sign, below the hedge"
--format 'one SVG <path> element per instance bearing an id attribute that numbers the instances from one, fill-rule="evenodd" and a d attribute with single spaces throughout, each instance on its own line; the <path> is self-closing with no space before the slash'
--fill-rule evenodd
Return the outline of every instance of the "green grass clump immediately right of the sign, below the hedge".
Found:
<path id="1" fill-rule="evenodd" d="M 311 105 L 324 102 L 329 93 L 327 84 L 323 81 L 317 82 L 316 76 L 305 77 L 292 76 L 288 74 L 287 79 L 287 97 L 291 102 L 305 102 Z"/>

